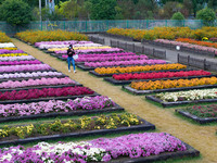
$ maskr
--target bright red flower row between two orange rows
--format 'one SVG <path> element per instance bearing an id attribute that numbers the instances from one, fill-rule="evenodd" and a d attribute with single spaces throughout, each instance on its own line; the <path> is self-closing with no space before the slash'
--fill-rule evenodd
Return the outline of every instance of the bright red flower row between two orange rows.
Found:
<path id="1" fill-rule="evenodd" d="M 152 78 L 187 77 L 187 76 L 202 76 L 202 75 L 212 75 L 212 73 L 201 70 L 201 71 L 119 74 L 119 75 L 113 75 L 112 77 L 116 80 L 130 80 L 130 79 L 152 79 Z"/>

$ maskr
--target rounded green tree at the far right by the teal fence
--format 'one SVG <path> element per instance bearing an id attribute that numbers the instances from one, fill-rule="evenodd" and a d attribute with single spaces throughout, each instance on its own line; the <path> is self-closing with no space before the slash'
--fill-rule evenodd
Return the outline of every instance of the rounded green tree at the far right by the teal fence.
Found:
<path id="1" fill-rule="evenodd" d="M 216 20 L 216 13 L 213 9 L 205 8 L 196 13 L 196 20 L 203 20 L 205 25 L 210 25 Z"/>

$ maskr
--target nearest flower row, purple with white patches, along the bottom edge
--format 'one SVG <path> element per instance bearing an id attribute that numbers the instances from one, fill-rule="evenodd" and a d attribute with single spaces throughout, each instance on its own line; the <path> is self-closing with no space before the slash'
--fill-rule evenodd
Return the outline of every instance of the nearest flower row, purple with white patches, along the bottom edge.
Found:
<path id="1" fill-rule="evenodd" d="M 157 143 L 156 143 L 157 141 Z M 107 162 L 122 156 L 140 158 L 186 151 L 179 139 L 166 133 L 130 134 L 81 142 L 39 142 L 33 148 L 3 148 L 1 162 Z M 26 156 L 28 155 L 28 156 Z M 47 156 L 44 156 L 47 155 Z"/>

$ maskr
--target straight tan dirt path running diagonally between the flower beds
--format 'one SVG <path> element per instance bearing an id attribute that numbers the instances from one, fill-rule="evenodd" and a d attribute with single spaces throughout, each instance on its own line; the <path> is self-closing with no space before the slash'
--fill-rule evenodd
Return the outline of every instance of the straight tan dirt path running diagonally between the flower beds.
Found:
<path id="1" fill-rule="evenodd" d="M 128 112 L 135 113 L 153 123 L 158 131 L 169 133 L 182 141 L 201 151 L 202 159 L 188 162 L 217 163 L 217 126 L 199 126 L 174 115 L 174 109 L 162 109 L 146 102 L 144 96 L 132 96 L 120 89 L 120 86 L 112 86 L 102 78 L 91 76 L 88 72 L 77 70 L 77 73 L 68 73 L 66 62 L 50 57 L 36 48 L 33 48 L 17 39 L 12 39 L 14 45 L 31 54 L 36 59 L 49 64 L 55 70 L 68 75 L 84 86 L 91 88 L 100 95 L 112 98 L 117 104 Z"/>

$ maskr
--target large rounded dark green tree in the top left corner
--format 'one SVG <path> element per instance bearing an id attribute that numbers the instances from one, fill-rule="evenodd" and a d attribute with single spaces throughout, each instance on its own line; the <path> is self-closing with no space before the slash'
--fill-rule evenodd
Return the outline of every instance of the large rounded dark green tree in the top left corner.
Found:
<path id="1" fill-rule="evenodd" d="M 30 7 L 22 0 L 5 0 L 0 11 L 1 20 L 12 25 L 28 24 L 31 20 Z"/>

